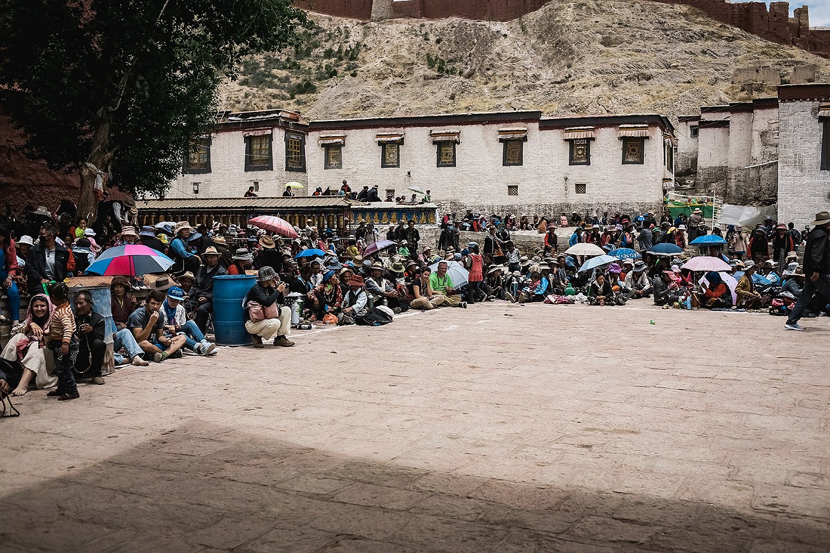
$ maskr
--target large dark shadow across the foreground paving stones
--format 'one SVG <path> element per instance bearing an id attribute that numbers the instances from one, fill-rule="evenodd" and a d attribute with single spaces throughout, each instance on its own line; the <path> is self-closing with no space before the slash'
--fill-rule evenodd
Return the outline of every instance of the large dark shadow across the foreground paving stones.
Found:
<path id="1" fill-rule="evenodd" d="M 828 551 L 826 528 L 366 463 L 198 421 L 0 497 L 0 551 L 759 553 Z"/>

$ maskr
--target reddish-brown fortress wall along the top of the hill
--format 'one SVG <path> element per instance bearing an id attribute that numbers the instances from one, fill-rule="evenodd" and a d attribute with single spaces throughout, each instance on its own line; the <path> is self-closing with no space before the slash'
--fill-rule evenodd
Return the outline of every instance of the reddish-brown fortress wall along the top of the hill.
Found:
<path id="1" fill-rule="evenodd" d="M 830 30 L 810 29 L 808 8 L 798 7 L 789 17 L 788 2 L 726 2 L 725 0 L 655 0 L 686 4 L 722 23 L 751 32 L 768 41 L 798 46 L 830 57 Z M 301 0 L 299 7 L 354 19 L 464 17 L 481 21 L 509 21 L 535 12 L 549 0 Z"/>

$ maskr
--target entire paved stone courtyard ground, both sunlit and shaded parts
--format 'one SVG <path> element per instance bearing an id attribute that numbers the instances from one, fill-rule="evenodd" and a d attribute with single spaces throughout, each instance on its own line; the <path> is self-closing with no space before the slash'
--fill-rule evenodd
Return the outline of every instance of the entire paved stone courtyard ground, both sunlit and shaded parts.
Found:
<path id="1" fill-rule="evenodd" d="M 828 551 L 830 323 L 783 324 L 491 303 L 30 392 L 0 550 Z"/>

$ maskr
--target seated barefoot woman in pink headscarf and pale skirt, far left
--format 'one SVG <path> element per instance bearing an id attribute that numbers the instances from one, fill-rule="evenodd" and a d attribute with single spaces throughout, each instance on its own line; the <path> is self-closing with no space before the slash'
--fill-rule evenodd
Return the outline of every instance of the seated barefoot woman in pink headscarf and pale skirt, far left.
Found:
<path id="1" fill-rule="evenodd" d="M 46 356 L 43 346 L 49 335 L 49 323 L 55 306 L 45 293 L 37 293 L 29 301 L 26 320 L 18 326 L 17 334 L 12 336 L 3 348 L 2 358 L 6 361 L 18 361 L 23 367 L 20 383 L 12 391 L 13 395 L 24 395 L 32 378 L 38 388 L 51 388 L 57 384 L 57 375 L 46 371 Z"/>

